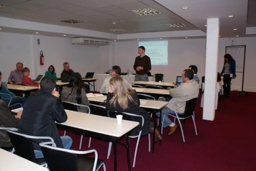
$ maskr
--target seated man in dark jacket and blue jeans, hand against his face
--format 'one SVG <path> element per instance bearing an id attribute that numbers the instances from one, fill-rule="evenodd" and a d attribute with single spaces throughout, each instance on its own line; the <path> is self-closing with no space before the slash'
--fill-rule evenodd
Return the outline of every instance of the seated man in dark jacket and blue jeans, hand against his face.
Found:
<path id="1" fill-rule="evenodd" d="M 31 136 L 52 137 L 57 147 L 69 149 L 72 139 L 69 136 L 59 135 L 55 121 L 63 123 L 67 114 L 59 99 L 60 94 L 55 89 L 56 82 L 52 77 L 42 78 L 39 91 L 31 94 L 23 107 L 22 118 L 18 131 Z M 39 143 L 49 140 L 34 140 L 35 158 L 44 157 Z"/>

